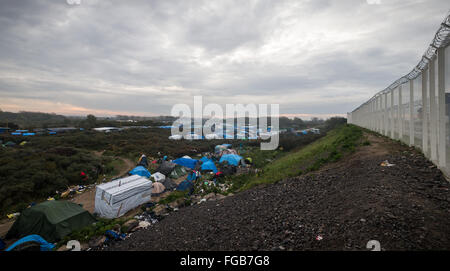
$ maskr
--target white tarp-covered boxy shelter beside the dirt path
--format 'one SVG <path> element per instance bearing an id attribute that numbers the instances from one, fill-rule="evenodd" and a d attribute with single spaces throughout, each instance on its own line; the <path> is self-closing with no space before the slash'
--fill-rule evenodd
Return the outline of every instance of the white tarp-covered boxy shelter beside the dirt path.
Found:
<path id="1" fill-rule="evenodd" d="M 150 201 L 151 195 L 152 182 L 139 175 L 104 183 L 95 191 L 95 213 L 104 218 L 120 217 Z"/>

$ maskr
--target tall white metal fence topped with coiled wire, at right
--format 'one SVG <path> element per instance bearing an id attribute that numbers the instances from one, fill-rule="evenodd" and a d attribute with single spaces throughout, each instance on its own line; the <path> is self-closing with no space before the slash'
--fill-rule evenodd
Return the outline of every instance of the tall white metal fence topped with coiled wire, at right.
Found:
<path id="1" fill-rule="evenodd" d="M 450 15 L 419 64 L 348 113 L 349 123 L 422 150 L 450 176 Z"/>

